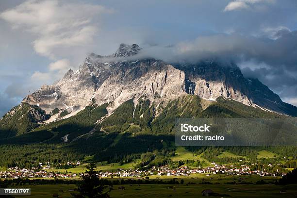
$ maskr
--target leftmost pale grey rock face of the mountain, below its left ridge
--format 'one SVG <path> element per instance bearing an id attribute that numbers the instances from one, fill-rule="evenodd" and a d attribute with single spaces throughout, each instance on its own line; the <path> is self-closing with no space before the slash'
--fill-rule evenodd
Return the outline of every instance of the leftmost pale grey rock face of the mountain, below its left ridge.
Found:
<path id="1" fill-rule="evenodd" d="M 111 74 L 110 68 L 97 62 L 99 57 L 90 54 L 77 71 L 69 69 L 55 85 L 43 85 L 23 102 L 38 104 L 47 113 L 54 108 L 66 109 L 68 112 L 81 110 L 90 103 L 96 90 Z"/>

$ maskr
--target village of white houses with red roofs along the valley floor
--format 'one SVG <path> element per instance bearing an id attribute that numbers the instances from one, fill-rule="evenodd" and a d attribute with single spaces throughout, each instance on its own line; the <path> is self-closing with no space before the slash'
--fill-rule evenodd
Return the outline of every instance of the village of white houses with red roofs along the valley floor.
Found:
<path id="1" fill-rule="evenodd" d="M 150 170 L 144 171 L 135 169 L 118 169 L 114 171 L 99 171 L 98 176 L 101 178 L 116 178 L 116 177 L 131 177 L 131 178 L 148 178 L 149 176 L 184 176 L 190 177 L 193 174 L 205 174 L 205 176 L 210 176 L 214 174 L 229 174 L 229 175 L 259 175 L 259 176 L 276 176 L 275 173 L 270 173 L 260 170 L 250 170 L 247 165 L 240 165 L 240 167 L 233 165 L 217 165 L 213 163 L 212 167 L 198 167 L 190 168 L 188 166 L 182 166 L 179 168 L 171 169 L 168 165 L 156 167 L 153 166 Z M 46 165 L 42 168 L 18 168 L 12 167 L 6 171 L 0 171 L 1 179 L 17 179 L 17 178 L 80 178 L 84 173 L 71 173 L 70 171 L 62 173 L 59 171 L 49 171 L 50 166 Z M 278 170 L 277 170 L 278 172 Z M 283 175 L 282 175 L 283 176 Z M 157 177 L 158 178 L 158 177 Z"/>

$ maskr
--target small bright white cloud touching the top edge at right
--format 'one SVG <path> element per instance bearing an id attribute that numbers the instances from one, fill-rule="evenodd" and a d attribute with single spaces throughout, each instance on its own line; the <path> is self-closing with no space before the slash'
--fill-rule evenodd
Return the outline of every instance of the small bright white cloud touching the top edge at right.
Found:
<path id="1" fill-rule="evenodd" d="M 225 7 L 224 12 L 252 8 L 259 3 L 273 3 L 275 0 L 233 0 Z"/>

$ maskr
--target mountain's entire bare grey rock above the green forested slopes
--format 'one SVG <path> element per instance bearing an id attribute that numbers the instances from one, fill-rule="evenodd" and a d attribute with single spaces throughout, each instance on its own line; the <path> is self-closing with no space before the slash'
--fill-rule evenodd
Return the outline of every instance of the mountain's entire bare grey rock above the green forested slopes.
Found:
<path id="1" fill-rule="evenodd" d="M 43 85 L 23 102 L 39 105 L 47 113 L 54 108 L 78 112 L 90 102 L 111 102 L 113 111 L 123 102 L 144 97 L 158 105 L 181 95 L 194 94 L 207 100 L 223 96 L 265 111 L 297 115 L 297 107 L 284 103 L 278 95 L 256 79 L 246 79 L 234 64 L 203 61 L 197 64 L 167 64 L 141 59 L 106 62 L 104 58 L 129 57 L 141 48 L 121 44 L 110 56 L 90 54 L 73 72 L 69 69 L 55 85 Z"/>

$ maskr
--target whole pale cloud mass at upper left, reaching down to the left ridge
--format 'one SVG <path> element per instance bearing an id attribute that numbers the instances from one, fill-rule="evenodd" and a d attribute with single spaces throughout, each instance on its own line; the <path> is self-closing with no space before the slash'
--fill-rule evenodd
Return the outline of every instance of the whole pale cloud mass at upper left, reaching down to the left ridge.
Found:
<path id="1" fill-rule="evenodd" d="M 26 0 L 0 13 L 13 31 L 33 38 L 34 51 L 52 60 L 47 69 L 36 68 L 30 77 L 33 84 L 50 84 L 92 50 L 100 32 L 100 16 L 113 10 L 79 0 Z M 71 63 L 70 61 L 71 60 Z"/>

